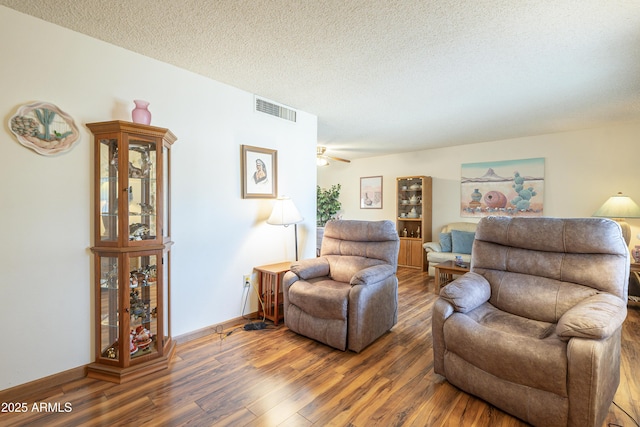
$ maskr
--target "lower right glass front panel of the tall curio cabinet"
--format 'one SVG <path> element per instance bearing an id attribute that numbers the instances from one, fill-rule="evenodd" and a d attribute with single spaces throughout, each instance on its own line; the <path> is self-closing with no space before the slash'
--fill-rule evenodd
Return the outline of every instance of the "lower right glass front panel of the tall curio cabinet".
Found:
<path id="1" fill-rule="evenodd" d="M 158 261 L 160 256 L 129 255 L 129 353 L 158 352 Z M 162 340 L 160 340 L 162 342 Z"/>

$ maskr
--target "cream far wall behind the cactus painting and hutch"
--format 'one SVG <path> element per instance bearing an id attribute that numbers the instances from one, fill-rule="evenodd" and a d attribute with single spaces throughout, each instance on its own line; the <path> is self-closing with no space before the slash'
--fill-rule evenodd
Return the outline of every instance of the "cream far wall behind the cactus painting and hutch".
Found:
<path id="1" fill-rule="evenodd" d="M 482 144 L 332 162 L 318 168 L 318 185 L 340 183 L 344 219 L 395 217 L 396 177 L 433 177 L 433 235 L 460 217 L 460 165 L 463 163 L 544 157 L 544 214 L 591 216 L 618 191 L 640 203 L 638 186 L 640 122 L 576 132 L 532 136 Z M 360 177 L 383 176 L 383 209 L 359 208 Z M 640 244 L 640 219 L 629 219 L 631 247 Z"/>

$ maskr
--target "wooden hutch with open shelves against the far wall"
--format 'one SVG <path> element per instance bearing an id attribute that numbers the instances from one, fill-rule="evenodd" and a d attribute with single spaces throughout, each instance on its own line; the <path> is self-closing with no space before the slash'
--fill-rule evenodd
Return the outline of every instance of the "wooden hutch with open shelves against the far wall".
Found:
<path id="1" fill-rule="evenodd" d="M 396 190 L 398 265 L 427 271 L 427 253 L 422 245 L 431 241 L 431 177 L 398 177 Z"/>

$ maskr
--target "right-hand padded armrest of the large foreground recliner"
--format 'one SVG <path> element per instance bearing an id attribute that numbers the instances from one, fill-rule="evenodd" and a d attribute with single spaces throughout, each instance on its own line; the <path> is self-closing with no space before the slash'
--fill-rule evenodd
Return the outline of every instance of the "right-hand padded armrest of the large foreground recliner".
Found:
<path id="1" fill-rule="evenodd" d="M 627 317 L 627 304 L 612 294 L 597 294 L 567 310 L 556 325 L 564 340 L 572 337 L 604 339 L 613 334 Z"/>

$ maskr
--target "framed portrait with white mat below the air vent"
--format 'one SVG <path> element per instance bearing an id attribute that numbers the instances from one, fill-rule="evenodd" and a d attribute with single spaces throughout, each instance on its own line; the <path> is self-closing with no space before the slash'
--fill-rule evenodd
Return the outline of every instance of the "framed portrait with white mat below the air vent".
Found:
<path id="1" fill-rule="evenodd" d="M 278 152 L 240 146 L 243 199 L 275 199 L 278 194 Z"/>

